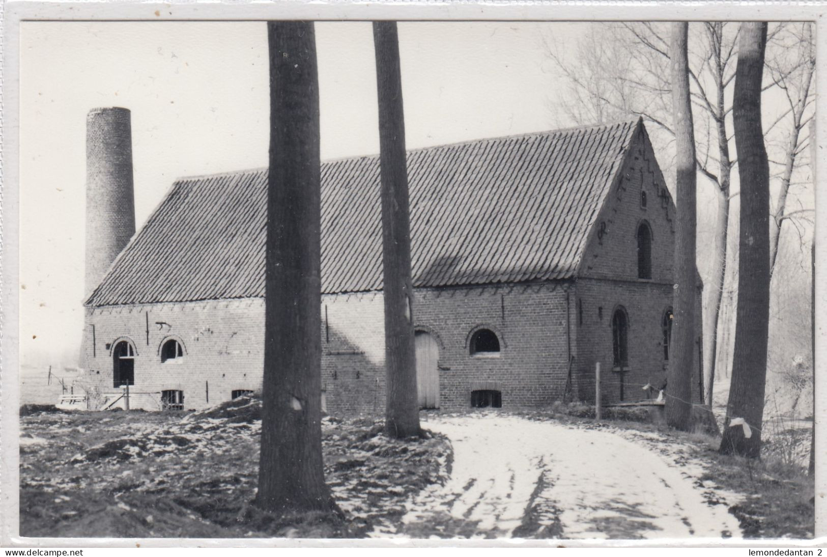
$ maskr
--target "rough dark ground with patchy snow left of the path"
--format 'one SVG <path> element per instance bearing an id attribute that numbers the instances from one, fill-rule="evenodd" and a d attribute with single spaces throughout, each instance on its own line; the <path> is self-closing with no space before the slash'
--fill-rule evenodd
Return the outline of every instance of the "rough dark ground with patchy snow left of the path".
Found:
<path id="1" fill-rule="evenodd" d="M 21 417 L 21 535 L 361 537 L 415 492 L 444 481 L 442 436 L 395 441 L 373 419 L 323 419 L 325 476 L 347 520 L 273 516 L 256 494 L 261 402 L 210 411 L 62 412 Z"/>

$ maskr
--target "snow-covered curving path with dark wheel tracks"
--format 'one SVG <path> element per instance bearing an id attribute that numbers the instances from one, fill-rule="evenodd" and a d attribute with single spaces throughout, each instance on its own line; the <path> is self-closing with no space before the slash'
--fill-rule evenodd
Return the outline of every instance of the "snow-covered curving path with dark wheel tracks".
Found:
<path id="1" fill-rule="evenodd" d="M 706 502 L 696 478 L 642 440 L 504 414 L 436 416 L 423 426 L 451 439 L 451 479 L 420 492 L 401 531 L 384 535 L 740 535 L 726 505 Z"/>

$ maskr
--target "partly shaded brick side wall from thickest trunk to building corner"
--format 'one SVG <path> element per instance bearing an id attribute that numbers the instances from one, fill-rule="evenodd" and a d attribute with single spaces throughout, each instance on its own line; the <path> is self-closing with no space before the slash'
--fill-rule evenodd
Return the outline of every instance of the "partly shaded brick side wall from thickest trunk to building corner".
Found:
<path id="1" fill-rule="evenodd" d="M 439 347 L 440 407 L 466 408 L 471 390 L 500 390 L 503 406 L 537 406 L 566 387 L 568 284 L 420 289 L 414 324 Z M 327 409 L 385 408 L 381 293 L 323 296 L 323 386 Z M 326 313 L 325 313 L 326 312 Z M 496 356 L 471 355 L 476 329 L 500 339 Z"/>

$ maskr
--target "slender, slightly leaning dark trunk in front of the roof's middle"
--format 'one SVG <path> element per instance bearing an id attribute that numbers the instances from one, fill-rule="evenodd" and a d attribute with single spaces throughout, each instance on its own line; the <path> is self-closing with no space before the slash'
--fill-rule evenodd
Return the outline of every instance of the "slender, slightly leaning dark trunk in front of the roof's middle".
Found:
<path id="1" fill-rule="evenodd" d="M 374 22 L 385 297 L 385 433 L 419 434 L 408 168 L 396 22 Z"/>

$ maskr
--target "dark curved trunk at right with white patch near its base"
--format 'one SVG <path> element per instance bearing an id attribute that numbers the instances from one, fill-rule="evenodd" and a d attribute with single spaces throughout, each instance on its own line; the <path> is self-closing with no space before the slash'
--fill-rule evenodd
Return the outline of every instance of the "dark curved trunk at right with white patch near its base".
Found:
<path id="1" fill-rule="evenodd" d="M 720 452 L 758 458 L 767 378 L 769 321 L 769 163 L 761 125 L 761 86 L 767 23 L 741 24 L 733 122 L 739 161 L 741 218 L 738 304 L 732 384 Z M 730 425 L 743 419 L 751 428 Z"/>

